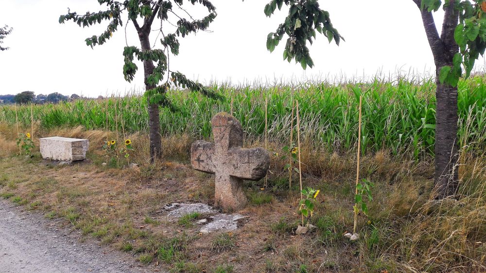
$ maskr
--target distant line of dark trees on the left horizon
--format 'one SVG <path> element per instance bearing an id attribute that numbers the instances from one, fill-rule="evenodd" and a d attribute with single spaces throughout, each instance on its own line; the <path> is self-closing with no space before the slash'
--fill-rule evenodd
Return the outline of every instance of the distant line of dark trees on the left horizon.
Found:
<path id="1" fill-rule="evenodd" d="M 59 103 L 64 101 L 71 101 L 78 98 L 82 98 L 77 94 L 72 94 L 71 96 L 64 96 L 57 92 L 51 93 L 49 95 L 39 94 L 35 96 L 34 92 L 32 91 L 24 91 L 18 93 L 17 95 L 0 95 L 0 104 L 27 104 L 27 103 L 36 103 L 36 104 L 43 104 L 43 103 Z"/>

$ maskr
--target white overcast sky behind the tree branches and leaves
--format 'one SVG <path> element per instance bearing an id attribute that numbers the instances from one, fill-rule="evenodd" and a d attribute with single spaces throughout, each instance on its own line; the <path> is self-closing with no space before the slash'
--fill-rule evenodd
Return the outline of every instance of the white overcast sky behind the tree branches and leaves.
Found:
<path id="1" fill-rule="evenodd" d="M 212 0 L 218 16 L 212 32 L 199 32 L 181 38 L 180 55 L 171 58 L 171 70 L 179 70 L 193 80 L 273 82 L 275 79 L 352 79 L 377 73 L 424 75 L 434 71 L 430 51 L 417 6 L 412 0 L 319 0 L 346 39 L 338 47 L 323 35 L 311 47 L 315 66 L 303 71 L 299 64 L 282 60 L 285 39 L 273 53 L 265 43 L 269 32 L 283 22 L 286 11 L 272 18 L 263 8 L 269 0 Z M 191 6 L 191 4 L 186 4 Z M 34 91 L 84 96 L 124 94 L 141 90 L 143 70 L 136 80 L 123 79 L 122 51 L 124 27 L 103 46 L 87 47 L 84 39 L 100 34 L 102 27 L 80 28 L 72 22 L 58 23 L 59 15 L 103 10 L 96 0 L 0 0 L 0 25 L 14 28 L 0 52 L 0 94 Z M 195 15 L 204 10 L 189 9 Z M 443 13 L 434 15 L 436 24 Z M 175 19 L 172 20 L 175 23 Z M 128 44 L 139 46 L 133 25 L 129 24 Z M 155 40 L 156 32 L 152 34 Z M 484 60 L 477 62 L 483 67 Z M 142 65 L 139 64 L 139 68 Z"/>

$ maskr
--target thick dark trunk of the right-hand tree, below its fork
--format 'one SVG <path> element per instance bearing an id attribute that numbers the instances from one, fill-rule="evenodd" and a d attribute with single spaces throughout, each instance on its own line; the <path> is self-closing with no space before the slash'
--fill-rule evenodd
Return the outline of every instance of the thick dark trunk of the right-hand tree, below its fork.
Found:
<path id="1" fill-rule="evenodd" d="M 450 65 L 451 64 L 445 64 Z M 439 82 L 436 70 L 435 92 L 435 177 L 436 198 L 455 195 L 458 190 L 458 145 L 457 145 L 457 87 Z"/>

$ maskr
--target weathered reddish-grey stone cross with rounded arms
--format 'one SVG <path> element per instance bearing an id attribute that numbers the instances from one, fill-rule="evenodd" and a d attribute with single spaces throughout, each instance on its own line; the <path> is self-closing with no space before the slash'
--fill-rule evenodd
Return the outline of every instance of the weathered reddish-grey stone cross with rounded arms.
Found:
<path id="1" fill-rule="evenodd" d="M 245 149 L 243 128 L 232 115 L 221 112 L 211 120 L 214 143 L 196 141 L 191 146 L 191 163 L 195 170 L 216 174 L 215 205 L 226 210 L 246 206 L 243 179 L 258 181 L 265 177 L 270 155 L 263 148 Z"/>

